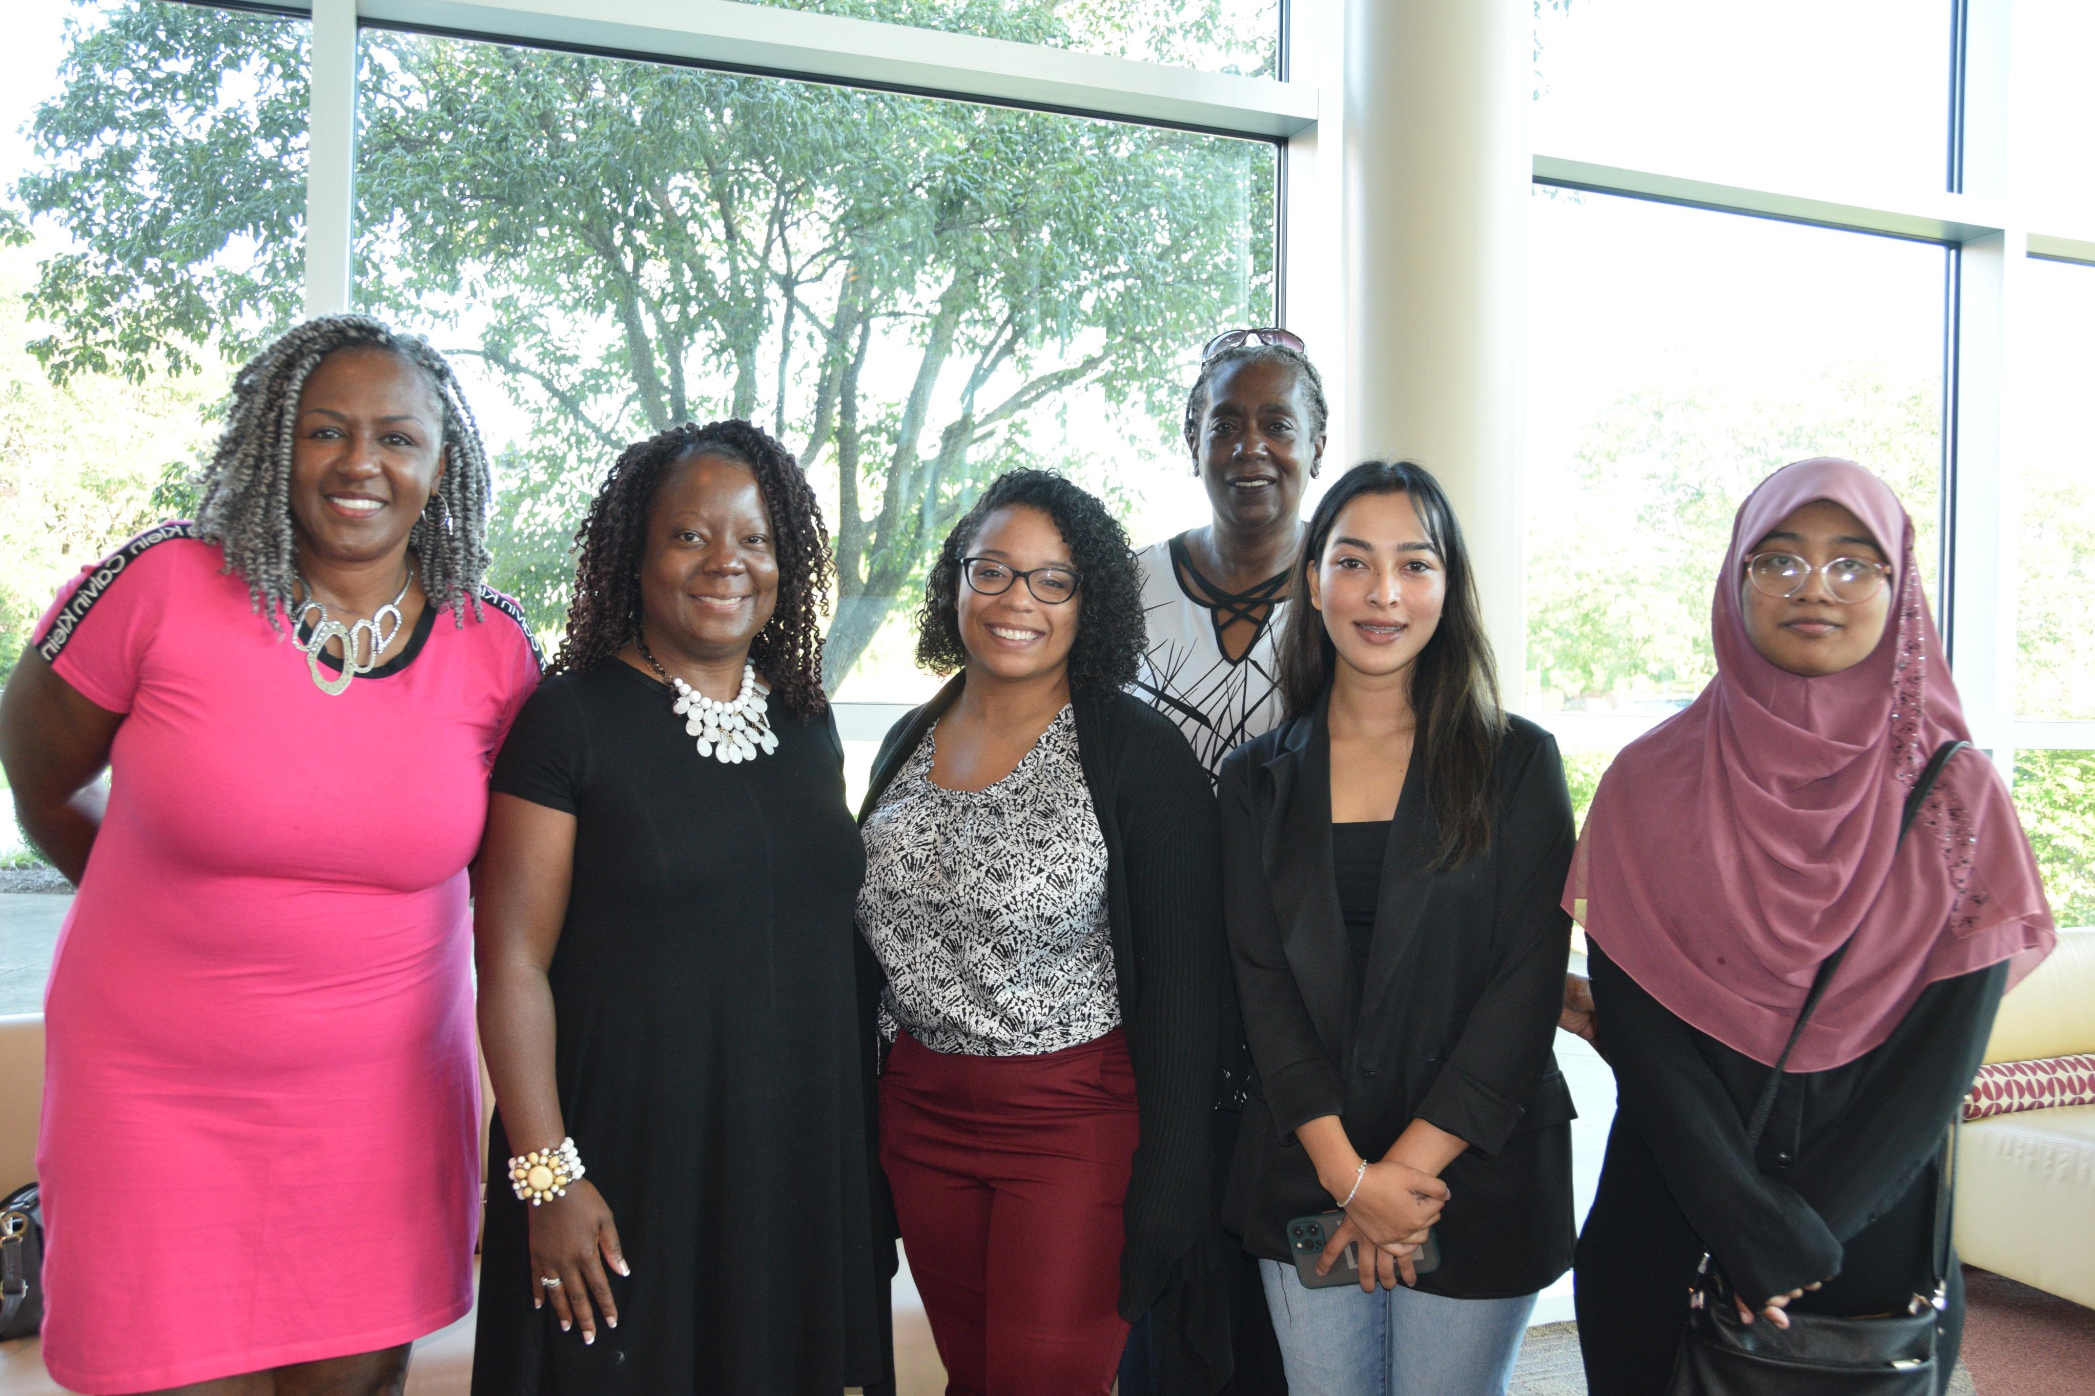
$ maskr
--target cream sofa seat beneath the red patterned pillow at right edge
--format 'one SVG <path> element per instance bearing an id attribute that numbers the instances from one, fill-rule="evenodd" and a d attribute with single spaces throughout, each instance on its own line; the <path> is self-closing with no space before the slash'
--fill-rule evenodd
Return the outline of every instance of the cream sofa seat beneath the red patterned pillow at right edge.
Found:
<path id="1" fill-rule="evenodd" d="M 1957 1141 L 1957 1254 L 2095 1308 L 2095 1105 L 1980 1120 Z"/>

